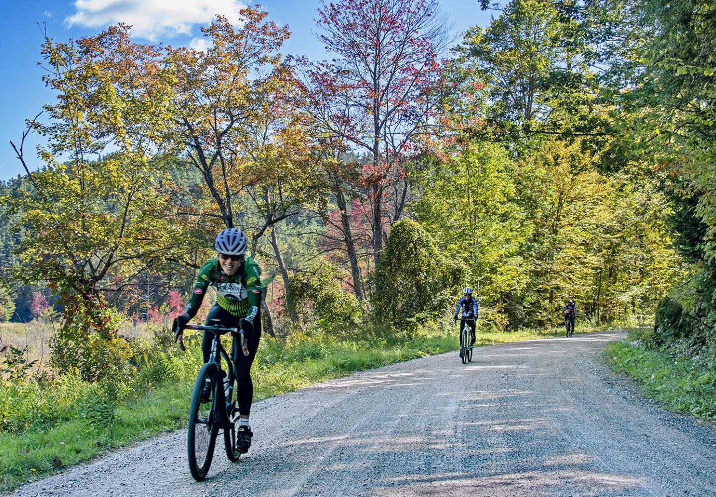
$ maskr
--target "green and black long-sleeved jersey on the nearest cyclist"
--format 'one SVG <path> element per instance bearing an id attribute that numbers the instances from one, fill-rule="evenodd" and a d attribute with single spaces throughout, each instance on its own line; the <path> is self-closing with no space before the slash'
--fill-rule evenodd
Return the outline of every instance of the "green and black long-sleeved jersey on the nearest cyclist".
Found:
<path id="1" fill-rule="evenodd" d="M 234 274 L 226 274 L 218 257 L 207 261 L 199 269 L 194 291 L 184 313 L 193 318 L 201 306 L 209 286 L 216 288 L 216 304 L 236 317 L 246 317 L 251 324 L 261 305 L 261 268 L 251 257 L 244 257 L 243 264 Z"/>

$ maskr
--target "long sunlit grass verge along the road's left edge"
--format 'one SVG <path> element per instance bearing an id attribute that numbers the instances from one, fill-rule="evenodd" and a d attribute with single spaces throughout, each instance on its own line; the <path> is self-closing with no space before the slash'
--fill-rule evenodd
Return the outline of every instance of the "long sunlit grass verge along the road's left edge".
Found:
<path id="1" fill-rule="evenodd" d="M 601 329 L 608 328 L 581 329 L 579 332 Z M 561 328 L 478 331 L 475 345 L 561 336 Z M 91 413 L 87 413 L 88 399 L 98 395 L 97 389 L 91 395 L 83 396 L 77 390 L 82 387 L 92 390 L 92 385 L 77 384 L 79 380 L 74 380 L 68 382 L 72 383 L 73 400 L 68 402 L 61 415 L 47 422 L 29 420 L 26 422 L 28 428 L 24 430 L 0 432 L 1 488 L 11 490 L 21 483 L 51 476 L 95 458 L 112 448 L 132 445 L 159 433 L 185 427 L 193 382 L 200 367 L 199 342 L 198 335 L 188 337 L 186 343 L 190 349 L 187 353 L 165 357 L 160 367 L 153 365 L 151 372 L 140 371 L 140 375 L 149 380 L 139 386 L 132 385 L 131 394 L 112 407 L 106 423 L 97 423 Z M 457 349 L 455 327 L 437 325 L 422 329 L 417 337 L 395 343 L 379 339 L 339 341 L 315 334 L 291 336 L 285 341 L 262 337 L 252 368 L 254 397 L 261 400 L 352 372 Z M 455 367 L 458 367 L 457 356 Z M 3 389 L 0 387 L 0 409 L 4 408 Z M 60 394 L 55 392 L 55 395 Z M 0 412 L 0 415 L 5 416 L 6 412 Z"/>

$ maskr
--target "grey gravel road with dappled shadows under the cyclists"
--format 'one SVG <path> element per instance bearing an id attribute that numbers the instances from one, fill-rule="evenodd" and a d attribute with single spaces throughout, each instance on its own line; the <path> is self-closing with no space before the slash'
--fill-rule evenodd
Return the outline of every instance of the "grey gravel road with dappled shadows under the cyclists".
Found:
<path id="1" fill-rule="evenodd" d="M 202 483 L 178 431 L 10 495 L 715 496 L 716 429 L 609 372 L 621 337 L 451 352 L 258 402 L 251 451 L 229 463 L 218 443 Z"/>

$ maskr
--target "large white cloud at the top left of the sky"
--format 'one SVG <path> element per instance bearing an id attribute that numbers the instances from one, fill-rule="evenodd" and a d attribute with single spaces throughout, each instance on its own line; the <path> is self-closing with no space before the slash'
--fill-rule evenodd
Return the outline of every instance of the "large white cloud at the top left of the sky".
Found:
<path id="1" fill-rule="evenodd" d="M 240 24 L 241 0 L 75 0 L 68 26 L 104 28 L 123 22 L 132 34 L 152 42 L 160 37 L 189 35 L 196 24 L 206 25 L 216 14 Z"/>

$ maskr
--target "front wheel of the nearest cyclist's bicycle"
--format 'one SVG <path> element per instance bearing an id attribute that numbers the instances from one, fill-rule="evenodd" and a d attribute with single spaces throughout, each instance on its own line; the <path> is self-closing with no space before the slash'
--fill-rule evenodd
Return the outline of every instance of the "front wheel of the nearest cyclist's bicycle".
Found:
<path id="1" fill-rule="evenodd" d="M 187 458 L 189 472 L 196 481 L 206 478 L 216 445 L 218 428 L 214 423 L 213 412 L 216 409 L 216 364 L 207 363 L 201 367 L 194 383 L 194 392 L 189 407 L 189 425 L 187 428 Z M 211 394 L 208 402 L 201 402 L 204 381 L 211 381 Z"/>

